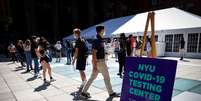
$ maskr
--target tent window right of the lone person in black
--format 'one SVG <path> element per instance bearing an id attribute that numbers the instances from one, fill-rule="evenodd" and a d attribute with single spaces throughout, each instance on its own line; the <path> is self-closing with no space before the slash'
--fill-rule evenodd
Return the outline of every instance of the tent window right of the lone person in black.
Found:
<path id="1" fill-rule="evenodd" d="M 198 45 L 198 33 L 188 34 L 187 52 L 196 53 L 197 45 Z"/>

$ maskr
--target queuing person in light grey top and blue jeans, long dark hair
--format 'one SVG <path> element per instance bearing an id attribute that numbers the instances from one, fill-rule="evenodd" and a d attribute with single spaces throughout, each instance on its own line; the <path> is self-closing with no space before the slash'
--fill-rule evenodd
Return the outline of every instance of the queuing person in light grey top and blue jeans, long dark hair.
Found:
<path id="1" fill-rule="evenodd" d="M 32 57 L 31 57 L 31 41 L 27 39 L 24 44 L 24 52 L 26 56 L 27 72 L 33 70 L 32 68 Z"/>

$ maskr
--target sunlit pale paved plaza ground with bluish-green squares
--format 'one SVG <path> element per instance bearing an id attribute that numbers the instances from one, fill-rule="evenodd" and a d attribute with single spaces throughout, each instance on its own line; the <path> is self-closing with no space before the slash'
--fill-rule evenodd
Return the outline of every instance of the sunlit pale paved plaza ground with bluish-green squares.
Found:
<path id="1" fill-rule="evenodd" d="M 167 59 L 178 60 L 178 58 Z M 91 61 L 89 57 L 88 62 Z M 42 79 L 34 79 L 33 73 L 25 73 L 19 64 L 0 63 L 0 101 L 79 101 L 78 87 L 81 83 L 79 72 L 71 65 L 51 63 L 55 82 L 43 84 Z M 121 92 L 122 79 L 118 73 L 118 64 L 114 58 L 107 62 L 114 91 Z M 87 65 L 87 78 L 92 66 Z M 89 89 L 92 98 L 88 101 L 119 101 L 119 98 L 108 98 L 102 76 L 99 74 Z M 201 60 L 178 60 L 177 74 L 173 91 L 173 101 L 201 101 Z"/>

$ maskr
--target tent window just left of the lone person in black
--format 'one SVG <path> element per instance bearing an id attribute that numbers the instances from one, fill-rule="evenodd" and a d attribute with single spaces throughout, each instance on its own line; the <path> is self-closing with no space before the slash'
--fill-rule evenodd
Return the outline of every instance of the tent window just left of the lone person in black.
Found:
<path id="1" fill-rule="evenodd" d="M 183 34 L 175 34 L 174 35 L 173 52 L 179 52 L 180 40 L 182 37 L 183 37 Z"/>

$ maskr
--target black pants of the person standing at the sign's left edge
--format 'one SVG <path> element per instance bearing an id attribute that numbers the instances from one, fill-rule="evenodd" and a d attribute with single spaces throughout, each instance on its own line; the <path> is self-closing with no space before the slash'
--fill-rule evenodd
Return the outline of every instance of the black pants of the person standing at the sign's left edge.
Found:
<path id="1" fill-rule="evenodd" d="M 118 60 L 119 60 L 119 73 L 122 74 L 123 67 L 125 67 L 125 52 L 119 52 L 118 53 Z"/>

